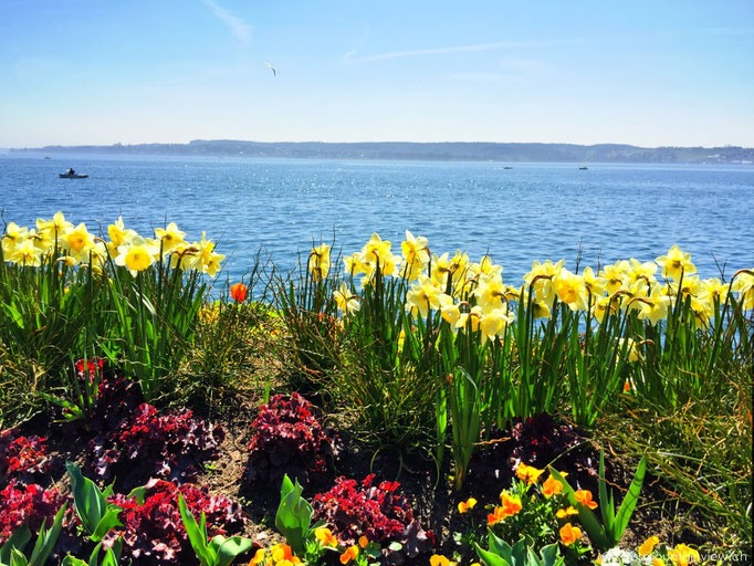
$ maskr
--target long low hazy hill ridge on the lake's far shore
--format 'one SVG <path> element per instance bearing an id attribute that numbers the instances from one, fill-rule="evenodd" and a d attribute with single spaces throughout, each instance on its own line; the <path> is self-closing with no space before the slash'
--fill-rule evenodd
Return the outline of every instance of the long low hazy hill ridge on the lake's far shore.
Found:
<path id="1" fill-rule="evenodd" d="M 232 139 L 195 139 L 188 144 L 112 146 L 45 146 L 14 148 L 11 153 L 106 154 L 160 156 L 276 157 L 299 159 L 411 159 L 429 161 L 565 161 L 649 164 L 752 164 L 754 148 L 746 147 L 637 147 L 622 144 L 437 144 L 371 142 L 261 143 Z"/>

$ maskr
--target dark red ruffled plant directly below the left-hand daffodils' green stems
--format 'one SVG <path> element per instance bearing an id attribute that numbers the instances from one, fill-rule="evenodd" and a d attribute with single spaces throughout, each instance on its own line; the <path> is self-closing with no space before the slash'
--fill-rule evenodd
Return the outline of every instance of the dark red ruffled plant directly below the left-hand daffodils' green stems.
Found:
<path id="1" fill-rule="evenodd" d="M 134 486 L 151 476 L 179 482 L 196 478 L 206 460 L 218 458 L 222 428 L 193 418 L 191 410 L 160 415 L 143 403 L 119 427 L 90 442 L 96 476 Z"/>

